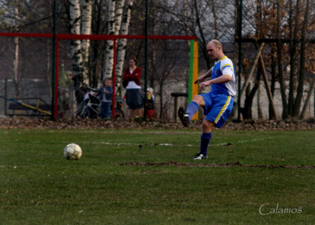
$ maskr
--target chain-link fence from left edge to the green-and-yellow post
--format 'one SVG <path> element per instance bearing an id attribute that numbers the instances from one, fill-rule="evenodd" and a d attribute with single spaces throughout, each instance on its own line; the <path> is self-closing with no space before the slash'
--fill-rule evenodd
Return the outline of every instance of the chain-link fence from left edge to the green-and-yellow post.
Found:
<path id="1" fill-rule="evenodd" d="M 18 43 L 15 41 L 18 40 Z M 0 88 L 1 95 L 9 99 L 16 99 L 25 104 L 35 106 L 37 99 L 42 99 L 42 103 L 51 105 L 51 73 L 52 73 L 52 45 L 48 38 L 16 38 L 2 37 L 0 68 Z M 107 40 L 91 40 L 88 60 L 82 64 L 84 75 L 81 82 L 86 83 L 96 91 L 102 85 L 105 78 L 105 60 L 106 47 L 109 44 Z M 190 69 L 190 46 L 189 40 L 149 40 L 150 52 L 148 62 L 148 87 L 152 87 L 154 92 L 154 118 L 174 119 L 174 102 L 178 100 L 178 105 L 186 105 L 187 97 L 172 97 L 172 93 L 187 94 L 187 86 Z M 75 74 L 73 71 L 73 60 L 71 56 L 71 40 L 58 40 L 59 58 L 58 58 L 58 113 L 59 116 L 75 116 L 78 109 L 75 90 L 84 95 L 88 90 L 84 88 L 75 88 L 72 80 L 69 80 L 68 86 L 61 86 L 62 79 L 68 79 L 68 74 Z M 117 86 L 116 97 L 123 98 L 125 89 L 120 85 L 123 70 L 128 67 L 128 59 L 132 56 L 138 58 L 138 66 L 142 69 L 141 84 L 144 92 L 144 40 L 128 39 L 127 47 L 122 65 L 122 72 L 116 74 Z M 83 58 L 84 59 L 84 58 Z M 17 69 L 14 67 L 17 65 Z M 7 80 L 5 82 L 5 80 Z M 65 82 L 62 82 L 65 83 Z M 81 85 L 82 86 L 82 85 Z M 67 109 L 61 105 L 60 99 L 69 93 L 69 103 Z M 61 97 L 61 98 L 60 98 Z M 31 115 L 33 113 L 29 108 L 24 110 L 12 110 L 15 103 L 0 100 L 2 107 L 1 115 Z M 20 109 L 20 108 L 19 108 Z"/>

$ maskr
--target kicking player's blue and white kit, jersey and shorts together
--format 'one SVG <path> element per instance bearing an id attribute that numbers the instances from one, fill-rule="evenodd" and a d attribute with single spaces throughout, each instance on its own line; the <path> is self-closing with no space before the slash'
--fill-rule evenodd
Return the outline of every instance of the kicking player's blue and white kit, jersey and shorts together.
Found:
<path id="1" fill-rule="evenodd" d="M 236 95 L 236 74 L 231 59 L 227 56 L 216 61 L 212 67 L 211 79 L 222 75 L 231 76 L 231 80 L 223 84 L 211 84 L 209 93 L 200 94 L 204 100 L 206 119 L 214 122 L 220 128 L 232 112 L 234 96 Z"/>

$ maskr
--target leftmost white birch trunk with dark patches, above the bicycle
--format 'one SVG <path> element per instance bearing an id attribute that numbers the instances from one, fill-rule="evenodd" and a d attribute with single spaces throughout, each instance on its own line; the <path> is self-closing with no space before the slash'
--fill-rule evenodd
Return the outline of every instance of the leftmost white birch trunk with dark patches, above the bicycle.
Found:
<path id="1" fill-rule="evenodd" d="M 80 0 L 70 0 L 70 33 L 74 35 L 80 34 Z M 76 94 L 77 104 L 79 100 L 79 88 L 80 83 L 83 82 L 82 75 L 82 54 L 81 54 L 81 42 L 80 40 L 71 40 L 71 58 L 72 58 L 72 70 L 74 75 L 74 89 Z"/>

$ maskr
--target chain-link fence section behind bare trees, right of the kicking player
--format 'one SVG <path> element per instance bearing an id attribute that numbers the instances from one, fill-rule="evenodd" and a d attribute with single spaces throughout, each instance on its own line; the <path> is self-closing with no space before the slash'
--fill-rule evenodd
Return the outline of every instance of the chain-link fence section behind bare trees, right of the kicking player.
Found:
<path id="1" fill-rule="evenodd" d="M 309 43 L 309 45 L 311 45 Z M 309 46 L 311 47 L 311 46 Z M 281 97 L 281 90 L 280 90 L 280 83 L 279 83 L 279 77 L 278 77 L 278 71 L 277 71 L 277 58 L 274 54 L 274 45 L 265 45 L 264 51 L 262 52 L 262 55 L 264 57 L 264 66 L 267 73 L 267 80 L 268 80 L 268 86 L 269 90 L 273 97 L 273 104 L 275 108 L 275 113 L 277 119 L 281 119 L 282 111 L 283 111 L 283 103 L 282 103 L 282 97 Z M 246 58 L 243 59 L 243 69 L 242 69 L 242 80 L 241 80 L 241 87 L 243 86 L 244 80 L 247 76 L 249 76 L 249 71 L 251 67 L 253 66 L 253 61 L 255 58 L 256 48 L 253 43 L 243 43 L 243 55 L 246 56 Z M 285 57 L 286 52 L 282 52 L 283 57 Z M 297 63 L 299 61 L 297 60 Z M 301 106 L 300 106 L 300 112 L 302 111 L 303 107 L 305 107 L 305 116 L 304 118 L 314 118 L 315 112 L 314 112 L 314 100 L 315 100 L 315 93 L 312 91 L 309 93 L 309 90 L 311 90 L 311 83 L 312 80 L 315 79 L 315 74 L 310 73 L 307 71 L 307 66 L 305 65 L 304 71 L 304 88 L 303 88 L 303 96 L 301 99 Z M 288 103 L 288 97 L 289 97 L 289 88 L 290 88 L 290 65 L 288 58 L 285 58 L 283 60 L 283 79 L 284 79 L 284 85 L 285 85 L 285 92 L 286 92 L 286 102 Z M 297 85 L 298 85 L 298 75 L 296 75 L 294 79 L 294 87 L 295 91 L 293 93 L 294 97 L 297 95 Z M 310 100 L 307 105 L 305 105 L 305 101 L 307 98 L 307 95 L 310 94 Z M 251 104 L 249 104 L 251 103 Z M 305 106 L 304 106 L 305 105 Z M 250 107 L 248 109 L 244 109 L 246 107 Z M 267 95 L 267 88 L 263 81 L 263 71 L 259 67 L 259 61 L 257 63 L 257 66 L 255 67 L 253 75 L 251 75 L 251 79 L 249 82 L 249 85 L 246 89 L 246 93 L 244 97 L 241 99 L 241 116 L 246 119 L 269 119 L 271 118 L 271 109 L 269 106 L 269 100 Z"/>

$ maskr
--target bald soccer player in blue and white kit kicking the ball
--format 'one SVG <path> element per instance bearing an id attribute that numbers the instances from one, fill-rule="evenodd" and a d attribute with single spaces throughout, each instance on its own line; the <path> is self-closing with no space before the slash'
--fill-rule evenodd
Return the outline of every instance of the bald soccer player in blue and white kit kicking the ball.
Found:
<path id="1" fill-rule="evenodd" d="M 232 61 L 225 56 L 222 44 L 212 40 L 207 44 L 209 56 L 215 60 L 213 67 L 204 75 L 199 77 L 195 84 L 200 84 L 201 89 L 211 85 L 209 93 L 195 95 L 186 111 L 179 107 L 178 117 L 184 126 L 188 126 L 199 106 L 203 107 L 206 118 L 202 122 L 202 135 L 200 151 L 194 159 L 206 159 L 208 145 L 212 137 L 212 126 L 222 127 L 232 112 L 234 96 L 236 95 L 236 74 Z M 205 81 L 207 77 L 210 80 Z"/>

